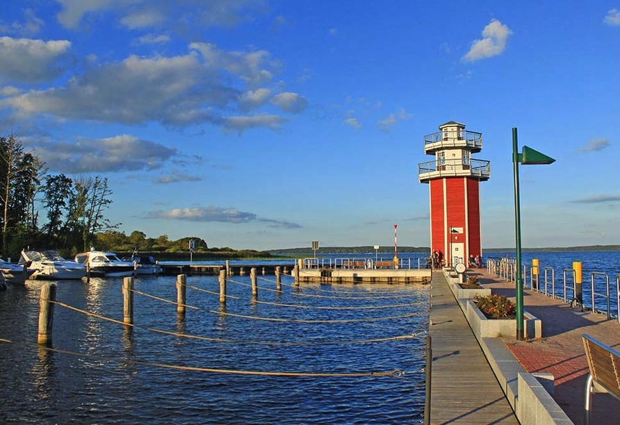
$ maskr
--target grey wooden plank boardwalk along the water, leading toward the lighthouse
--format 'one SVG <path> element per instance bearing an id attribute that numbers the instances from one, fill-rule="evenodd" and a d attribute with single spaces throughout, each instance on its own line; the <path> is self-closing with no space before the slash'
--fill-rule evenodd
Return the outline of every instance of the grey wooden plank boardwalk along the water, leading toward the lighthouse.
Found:
<path id="1" fill-rule="evenodd" d="M 433 272 L 431 424 L 519 424 L 442 272 Z"/>

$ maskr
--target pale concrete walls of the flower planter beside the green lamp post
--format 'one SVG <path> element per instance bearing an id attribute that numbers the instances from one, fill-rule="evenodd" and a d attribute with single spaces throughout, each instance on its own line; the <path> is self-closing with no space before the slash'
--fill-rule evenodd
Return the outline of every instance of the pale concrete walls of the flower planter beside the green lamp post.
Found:
<path id="1" fill-rule="evenodd" d="M 500 335 L 516 334 L 516 319 L 487 319 L 471 299 L 464 300 L 464 313 L 476 338 L 498 338 Z M 523 333 L 528 340 L 542 337 L 540 319 L 523 312 Z"/>

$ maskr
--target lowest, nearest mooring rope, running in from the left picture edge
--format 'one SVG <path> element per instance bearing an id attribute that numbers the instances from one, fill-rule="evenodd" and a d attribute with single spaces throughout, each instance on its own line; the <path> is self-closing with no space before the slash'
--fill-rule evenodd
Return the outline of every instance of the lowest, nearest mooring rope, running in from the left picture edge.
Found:
<path id="1" fill-rule="evenodd" d="M 130 360 L 127 358 L 113 358 L 107 356 L 99 356 L 95 354 L 89 353 L 79 353 L 76 351 L 68 351 L 63 349 L 55 349 L 52 347 L 45 347 L 40 344 L 32 344 L 28 342 L 18 342 L 13 340 L 6 340 L 4 338 L 0 338 L 0 342 L 6 342 L 8 344 L 22 344 L 27 347 L 43 349 L 46 351 L 52 351 L 54 353 L 67 354 L 70 356 L 79 356 L 82 358 L 90 358 L 95 360 L 104 360 L 115 363 L 125 363 L 131 365 L 141 365 L 141 366 L 149 366 L 149 367 L 161 367 L 164 369 L 177 369 L 177 370 L 187 370 L 193 372 L 211 372 L 215 374 L 236 374 L 236 375 L 263 375 L 263 376 L 309 376 L 309 377 L 323 377 L 323 376 L 343 376 L 343 377 L 357 377 L 357 376 L 404 376 L 405 372 L 402 372 L 400 369 L 393 369 L 391 371 L 382 371 L 382 372 L 263 372 L 263 371 L 250 371 L 250 370 L 234 370 L 234 369 L 214 369 L 211 367 L 195 367 L 195 366 L 179 366 L 179 365 L 168 365 L 165 363 L 150 363 L 142 360 Z M 419 372 L 419 371 L 416 371 Z"/>

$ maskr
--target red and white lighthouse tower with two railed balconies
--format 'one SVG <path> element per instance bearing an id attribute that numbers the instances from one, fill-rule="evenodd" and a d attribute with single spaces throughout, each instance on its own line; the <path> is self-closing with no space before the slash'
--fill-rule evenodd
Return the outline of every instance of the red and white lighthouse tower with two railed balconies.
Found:
<path id="1" fill-rule="evenodd" d="M 424 136 L 424 152 L 434 160 L 418 165 L 418 178 L 430 187 L 431 249 L 441 251 L 446 265 L 467 264 L 482 256 L 480 182 L 489 180 L 487 160 L 471 158 L 482 150 L 482 133 L 465 124 L 446 122 L 438 133 Z"/>

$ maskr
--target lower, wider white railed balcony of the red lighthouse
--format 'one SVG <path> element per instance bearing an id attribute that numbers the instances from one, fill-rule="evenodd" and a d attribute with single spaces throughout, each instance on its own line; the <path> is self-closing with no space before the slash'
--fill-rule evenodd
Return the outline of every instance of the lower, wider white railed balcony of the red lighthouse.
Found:
<path id="1" fill-rule="evenodd" d="M 491 162 L 487 160 L 447 159 L 418 164 L 418 179 L 428 183 L 433 178 L 471 177 L 487 181 L 491 177 Z"/>

